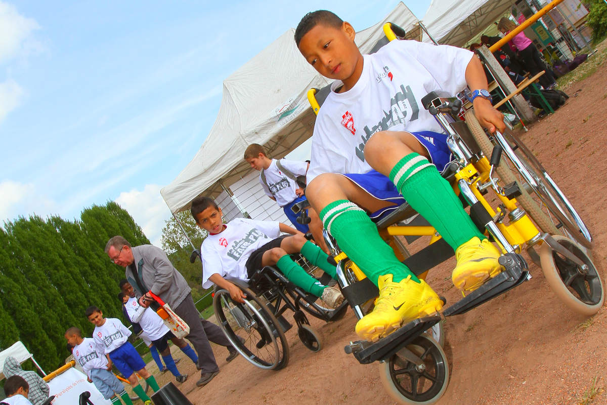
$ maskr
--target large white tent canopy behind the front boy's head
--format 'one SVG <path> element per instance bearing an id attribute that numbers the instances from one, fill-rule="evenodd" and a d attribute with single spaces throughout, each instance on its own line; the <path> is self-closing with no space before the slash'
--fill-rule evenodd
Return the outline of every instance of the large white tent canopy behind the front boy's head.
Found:
<path id="1" fill-rule="evenodd" d="M 384 36 L 381 27 L 388 21 L 410 30 L 418 19 L 399 3 L 381 22 L 356 34 L 361 52 L 368 53 Z M 294 30 L 288 30 L 223 82 L 211 132 L 186 168 L 160 191 L 172 213 L 188 208 L 203 192 L 215 197 L 242 179 L 251 171 L 243 160 L 251 143 L 283 157 L 311 136 L 315 117 L 306 94 L 329 81 L 304 60 L 293 36 Z"/>

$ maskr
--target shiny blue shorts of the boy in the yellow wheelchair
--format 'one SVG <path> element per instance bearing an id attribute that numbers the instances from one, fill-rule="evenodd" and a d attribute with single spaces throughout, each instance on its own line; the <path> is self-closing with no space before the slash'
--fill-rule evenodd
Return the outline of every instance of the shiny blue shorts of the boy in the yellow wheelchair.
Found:
<path id="1" fill-rule="evenodd" d="M 438 134 L 437 132 L 432 131 L 412 132 L 412 134 L 428 151 L 430 163 L 435 165 L 436 169 L 442 173 L 452 160 L 451 150 L 447 146 L 447 135 Z M 395 203 L 393 206 L 387 206 L 375 211 L 375 213 L 370 213 L 369 217 L 373 222 L 377 222 L 386 214 L 390 213 L 390 211 L 398 208 L 399 205 L 405 202 L 404 197 L 401 196 L 394 183 L 378 171 L 371 170 L 367 173 L 345 173 L 342 175 L 350 179 L 354 184 L 367 191 L 368 194 L 371 194 L 371 196 L 376 199 Z"/>

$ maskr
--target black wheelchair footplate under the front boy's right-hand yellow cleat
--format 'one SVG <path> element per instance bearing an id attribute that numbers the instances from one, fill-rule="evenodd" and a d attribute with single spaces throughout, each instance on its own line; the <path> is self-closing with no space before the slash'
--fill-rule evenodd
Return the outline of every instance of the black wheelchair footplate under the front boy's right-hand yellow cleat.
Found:
<path id="1" fill-rule="evenodd" d="M 500 257 L 499 261 L 504 266 L 504 271 L 444 310 L 443 315 L 452 316 L 466 313 L 472 308 L 476 308 L 478 305 L 505 293 L 510 288 L 517 287 L 528 279 L 527 262 L 520 254 L 506 253 Z"/>

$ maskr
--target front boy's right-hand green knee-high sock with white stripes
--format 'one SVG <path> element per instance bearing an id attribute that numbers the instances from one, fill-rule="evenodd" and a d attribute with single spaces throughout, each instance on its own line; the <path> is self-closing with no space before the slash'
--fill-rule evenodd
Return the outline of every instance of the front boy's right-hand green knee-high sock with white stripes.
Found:
<path id="1" fill-rule="evenodd" d="M 475 236 L 486 239 L 464 211 L 449 182 L 427 158 L 410 153 L 396 163 L 388 177 L 453 250 Z"/>

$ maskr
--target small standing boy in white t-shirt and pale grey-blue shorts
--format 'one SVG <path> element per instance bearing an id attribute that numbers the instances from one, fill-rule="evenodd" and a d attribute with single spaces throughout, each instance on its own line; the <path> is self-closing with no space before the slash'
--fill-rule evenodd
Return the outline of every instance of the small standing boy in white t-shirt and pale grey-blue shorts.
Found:
<path id="1" fill-rule="evenodd" d="M 103 398 L 111 400 L 112 404 L 120 404 L 122 398 L 126 405 L 132 405 L 131 398 L 122 383 L 109 371 L 112 363 L 107 360 L 104 347 L 95 343 L 92 338 L 83 338 L 80 328 L 77 327 L 66 330 L 64 336 L 73 346 L 72 355 L 76 364 L 80 364 L 89 381 L 95 384 Z"/>

